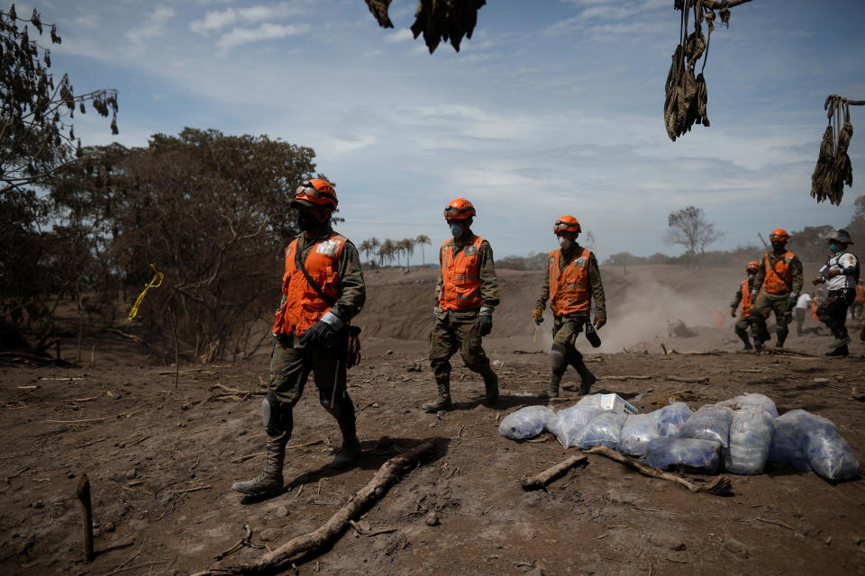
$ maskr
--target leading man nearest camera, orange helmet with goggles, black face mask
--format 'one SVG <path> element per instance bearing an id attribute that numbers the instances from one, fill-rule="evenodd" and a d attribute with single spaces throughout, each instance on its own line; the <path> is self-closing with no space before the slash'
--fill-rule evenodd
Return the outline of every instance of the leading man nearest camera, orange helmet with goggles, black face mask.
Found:
<path id="1" fill-rule="evenodd" d="M 267 461 L 262 473 L 235 482 L 232 490 L 257 496 L 283 491 L 292 409 L 310 371 L 319 401 L 342 434 L 332 467 L 345 467 L 360 456 L 354 404 L 345 388 L 345 346 L 349 321 L 363 308 L 366 288 L 357 248 L 331 228 L 336 206 L 336 191 L 320 178 L 300 184 L 291 202 L 301 232 L 286 248 L 283 297 L 272 330 L 269 390 L 262 402 Z"/>

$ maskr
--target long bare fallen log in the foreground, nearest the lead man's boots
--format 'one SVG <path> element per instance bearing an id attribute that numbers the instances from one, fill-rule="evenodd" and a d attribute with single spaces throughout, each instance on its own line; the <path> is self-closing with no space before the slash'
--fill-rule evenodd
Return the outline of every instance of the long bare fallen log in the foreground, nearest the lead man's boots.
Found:
<path id="1" fill-rule="evenodd" d="M 305 554 L 325 545 L 331 545 L 350 526 L 350 521 L 361 509 L 367 508 L 372 501 L 383 496 L 399 480 L 400 474 L 410 471 L 414 464 L 417 464 L 424 455 L 431 453 L 434 448 L 432 442 L 423 442 L 382 464 L 378 473 L 366 486 L 355 492 L 345 506 L 337 510 L 327 522 L 312 532 L 292 538 L 272 552 L 262 555 L 253 563 L 214 568 L 204 572 L 196 572 L 193 576 L 215 576 L 216 574 L 245 576 L 246 574 L 276 572 L 286 568 L 297 554 Z"/>

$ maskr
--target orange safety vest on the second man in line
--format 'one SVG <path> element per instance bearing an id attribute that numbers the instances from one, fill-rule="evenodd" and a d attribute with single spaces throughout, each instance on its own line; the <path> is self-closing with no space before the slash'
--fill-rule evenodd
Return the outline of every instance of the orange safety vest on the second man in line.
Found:
<path id="1" fill-rule="evenodd" d="M 483 303 L 480 296 L 480 245 L 484 238 L 476 236 L 454 256 L 457 245 L 452 240 L 442 244 L 442 293 L 439 306 L 443 310 L 472 310 Z M 450 245 L 450 246 L 449 246 Z"/>

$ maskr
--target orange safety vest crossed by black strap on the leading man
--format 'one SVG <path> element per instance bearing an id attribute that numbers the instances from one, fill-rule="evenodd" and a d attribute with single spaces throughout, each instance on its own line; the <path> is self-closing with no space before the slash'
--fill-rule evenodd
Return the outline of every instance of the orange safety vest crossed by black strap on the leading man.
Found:
<path id="1" fill-rule="evenodd" d="M 347 238 L 336 232 L 315 243 L 306 255 L 306 272 L 334 302 L 340 298 L 339 260 Z M 277 311 L 273 323 L 276 334 L 303 336 L 315 322 L 321 320 L 331 304 L 324 302 L 315 289 L 306 282 L 304 273 L 295 266 L 297 238 L 286 248 L 286 273 L 282 276 L 282 293 L 286 302 Z"/>

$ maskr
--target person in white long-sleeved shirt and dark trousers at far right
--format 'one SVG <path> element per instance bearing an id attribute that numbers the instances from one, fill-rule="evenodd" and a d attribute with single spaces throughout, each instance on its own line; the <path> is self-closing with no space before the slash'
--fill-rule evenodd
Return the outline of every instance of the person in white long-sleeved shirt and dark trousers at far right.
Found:
<path id="1" fill-rule="evenodd" d="M 837 229 L 826 238 L 831 256 L 816 275 L 814 284 L 826 284 L 826 297 L 817 307 L 820 319 L 835 337 L 833 349 L 826 356 L 849 356 L 850 335 L 847 333 L 847 307 L 856 298 L 856 283 L 859 281 L 859 259 L 847 251 L 853 241 L 845 229 Z"/>

